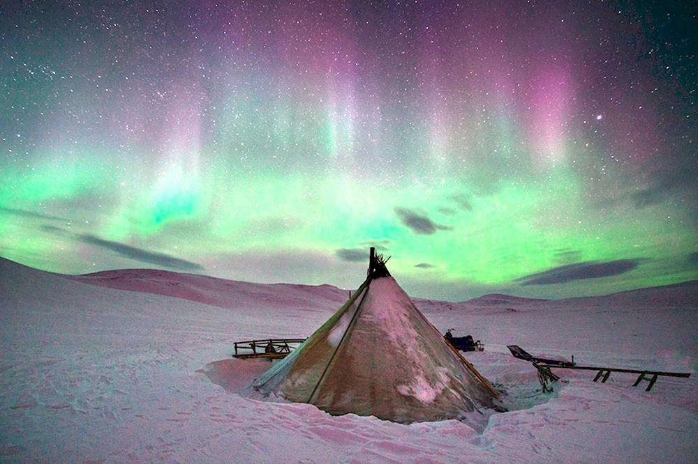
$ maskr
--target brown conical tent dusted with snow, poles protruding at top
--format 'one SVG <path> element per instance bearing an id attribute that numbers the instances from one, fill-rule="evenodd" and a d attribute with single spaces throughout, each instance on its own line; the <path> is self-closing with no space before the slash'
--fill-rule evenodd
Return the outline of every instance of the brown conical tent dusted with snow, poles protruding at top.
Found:
<path id="1" fill-rule="evenodd" d="M 253 382 L 262 394 L 394 422 L 491 407 L 496 392 L 415 307 L 381 257 L 352 297 Z"/>

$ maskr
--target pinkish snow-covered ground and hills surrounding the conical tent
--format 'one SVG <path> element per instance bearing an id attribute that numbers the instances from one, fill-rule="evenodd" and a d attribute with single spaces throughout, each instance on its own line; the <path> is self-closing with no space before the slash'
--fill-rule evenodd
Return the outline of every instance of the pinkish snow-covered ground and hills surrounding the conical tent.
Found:
<path id="1" fill-rule="evenodd" d="M 269 363 L 232 359 L 234 341 L 307 337 L 347 297 L 162 271 L 68 278 L 0 258 L 0 461 L 698 462 L 695 282 L 549 302 L 417 300 L 442 332 L 485 343 L 466 357 L 506 390 L 510 412 L 493 413 L 484 430 L 244 396 Z M 634 374 L 601 383 L 594 371 L 558 370 L 563 382 L 542 394 L 533 366 L 507 344 L 692 375 L 660 377 L 645 392 Z"/>

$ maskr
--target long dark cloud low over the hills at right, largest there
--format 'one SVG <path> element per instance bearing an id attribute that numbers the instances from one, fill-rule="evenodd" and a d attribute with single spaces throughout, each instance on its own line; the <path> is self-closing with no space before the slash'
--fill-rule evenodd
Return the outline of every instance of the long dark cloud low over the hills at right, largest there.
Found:
<path id="1" fill-rule="evenodd" d="M 587 263 L 570 264 L 530 274 L 515 281 L 522 282 L 521 285 L 549 285 L 565 284 L 581 279 L 598 279 L 629 272 L 637 268 L 639 261 L 639 259 L 618 259 L 606 263 L 588 261 Z"/>

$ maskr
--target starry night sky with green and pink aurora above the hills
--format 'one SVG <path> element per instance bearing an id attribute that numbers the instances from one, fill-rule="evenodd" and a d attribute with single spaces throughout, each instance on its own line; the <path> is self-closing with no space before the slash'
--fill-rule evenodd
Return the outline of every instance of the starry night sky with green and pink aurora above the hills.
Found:
<path id="1" fill-rule="evenodd" d="M 697 8 L 3 1 L 0 256 L 355 288 L 376 246 L 452 301 L 698 279 Z"/>

